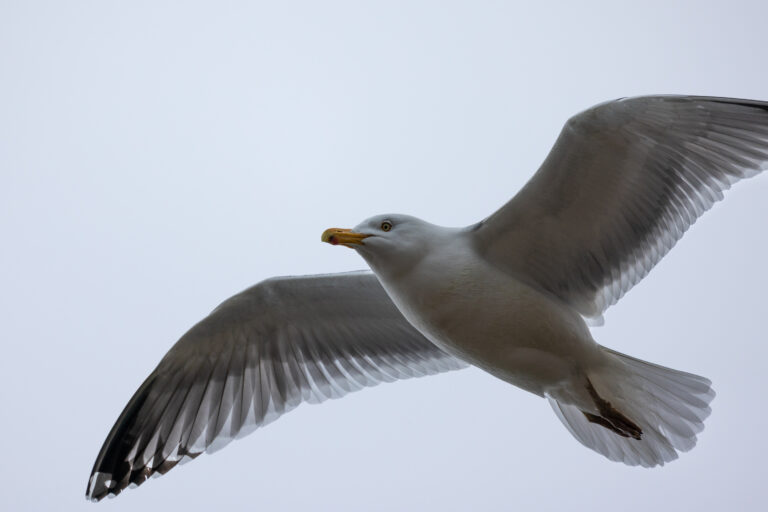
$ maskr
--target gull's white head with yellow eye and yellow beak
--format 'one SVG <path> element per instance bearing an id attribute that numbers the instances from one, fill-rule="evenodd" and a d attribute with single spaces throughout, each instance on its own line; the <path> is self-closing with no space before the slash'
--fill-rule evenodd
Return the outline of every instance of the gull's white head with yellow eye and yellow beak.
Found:
<path id="1" fill-rule="evenodd" d="M 376 272 L 405 270 L 427 253 L 440 230 L 416 217 L 377 215 L 352 229 L 330 228 L 321 240 L 357 251 Z"/>

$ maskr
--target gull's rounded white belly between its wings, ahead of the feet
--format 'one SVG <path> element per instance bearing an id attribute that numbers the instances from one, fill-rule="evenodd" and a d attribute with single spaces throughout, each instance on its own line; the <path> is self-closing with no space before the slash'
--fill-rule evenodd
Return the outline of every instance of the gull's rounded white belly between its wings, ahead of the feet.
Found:
<path id="1" fill-rule="evenodd" d="M 407 279 L 382 283 L 408 321 L 445 351 L 538 395 L 597 357 L 583 319 L 557 299 L 491 269 L 425 263 Z"/>

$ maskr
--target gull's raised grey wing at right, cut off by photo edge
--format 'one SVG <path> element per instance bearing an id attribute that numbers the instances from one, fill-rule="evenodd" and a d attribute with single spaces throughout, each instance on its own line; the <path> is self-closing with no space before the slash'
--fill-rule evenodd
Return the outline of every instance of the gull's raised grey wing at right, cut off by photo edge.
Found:
<path id="1" fill-rule="evenodd" d="M 733 183 L 768 164 L 768 103 L 648 96 L 571 118 L 539 171 L 473 227 L 477 251 L 599 318 Z"/>

